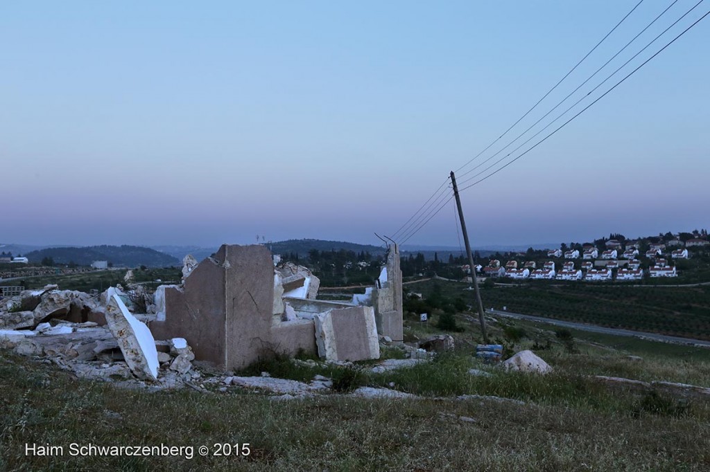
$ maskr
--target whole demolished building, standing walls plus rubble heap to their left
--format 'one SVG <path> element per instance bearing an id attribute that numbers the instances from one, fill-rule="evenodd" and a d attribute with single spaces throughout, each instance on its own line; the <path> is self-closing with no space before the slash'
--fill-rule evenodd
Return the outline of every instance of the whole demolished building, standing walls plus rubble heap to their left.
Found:
<path id="1" fill-rule="evenodd" d="M 100 296 L 57 286 L 25 291 L 0 300 L 0 327 L 12 330 L 3 337 L 13 339 L 13 346 L 20 343 L 18 352 L 62 352 L 63 359 L 79 363 L 102 355 L 104 361 L 123 359 L 136 378 L 151 383 L 168 374 L 189 379 L 192 359 L 224 370 L 243 369 L 272 354 L 360 361 L 379 358 L 380 337 L 401 341 L 397 247 L 389 248 L 376 286 L 359 303 L 317 300 L 320 281 L 309 269 L 276 262 L 263 245 L 222 245 L 199 263 L 186 257 L 182 283 L 159 286 L 151 303 L 143 304 L 151 314 L 129 313 L 126 305 L 136 310 L 132 298 L 143 290 L 135 285 Z M 175 343 L 184 344 L 188 354 L 171 348 L 171 358 L 161 351 Z M 103 369 L 76 363 L 71 368 Z M 125 371 L 126 364 L 115 369 Z"/>

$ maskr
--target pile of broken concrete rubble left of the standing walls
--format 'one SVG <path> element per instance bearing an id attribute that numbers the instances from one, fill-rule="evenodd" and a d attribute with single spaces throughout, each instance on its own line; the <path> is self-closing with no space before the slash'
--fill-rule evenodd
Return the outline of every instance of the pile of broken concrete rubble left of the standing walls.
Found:
<path id="1" fill-rule="evenodd" d="M 192 369 L 195 354 L 187 341 L 155 342 L 124 298 L 117 288 L 96 297 L 57 286 L 4 298 L 0 349 L 43 357 L 80 378 L 131 387 L 175 388 L 200 378 Z"/>

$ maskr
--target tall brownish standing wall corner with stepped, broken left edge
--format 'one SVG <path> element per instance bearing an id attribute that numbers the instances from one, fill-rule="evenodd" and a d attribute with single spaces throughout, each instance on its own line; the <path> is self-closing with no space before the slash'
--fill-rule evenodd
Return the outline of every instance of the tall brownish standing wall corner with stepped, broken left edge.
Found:
<path id="1" fill-rule="evenodd" d="M 271 349 L 274 274 L 261 245 L 222 245 L 192 269 L 182 290 L 165 288 L 165 320 L 157 339 L 184 337 L 195 358 L 241 369 Z"/>

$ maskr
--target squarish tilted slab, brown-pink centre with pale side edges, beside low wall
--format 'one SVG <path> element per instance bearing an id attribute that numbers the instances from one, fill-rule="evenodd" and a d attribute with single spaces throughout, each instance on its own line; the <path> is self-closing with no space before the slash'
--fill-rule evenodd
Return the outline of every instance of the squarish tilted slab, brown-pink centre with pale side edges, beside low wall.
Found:
<path id="1" fill-rule="evenodd" d="M 328 361 L 379 359 L 375 312 L 357 306 L 330 310 L 315 317 L 318 355 Z"/>

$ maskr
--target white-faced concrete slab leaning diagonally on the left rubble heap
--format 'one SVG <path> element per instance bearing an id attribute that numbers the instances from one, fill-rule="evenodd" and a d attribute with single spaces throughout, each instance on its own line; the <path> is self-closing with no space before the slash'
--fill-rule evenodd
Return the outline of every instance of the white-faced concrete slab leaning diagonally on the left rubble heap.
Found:
<path id="1" fill-rule="evenodd" d="M 131 371 L 138 378 L 154 381 L 158 378 L 158 351 L 151 330 L 131 315 L 116 293 L 109 291 L 106 320 L 111 334 L 119 343 Z"/>

